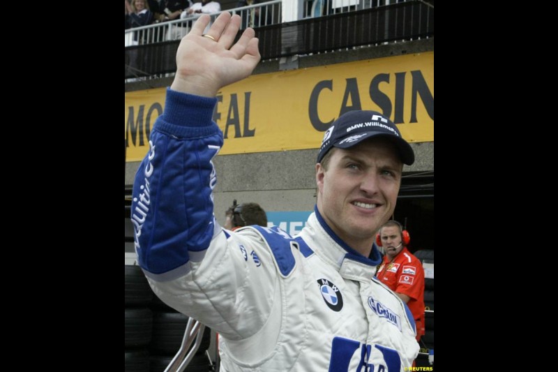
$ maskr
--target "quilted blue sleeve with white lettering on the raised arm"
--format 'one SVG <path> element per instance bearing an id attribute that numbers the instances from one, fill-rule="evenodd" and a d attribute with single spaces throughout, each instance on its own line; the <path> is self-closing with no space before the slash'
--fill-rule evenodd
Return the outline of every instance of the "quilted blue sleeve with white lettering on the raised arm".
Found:
<path id="1" fill-rule="evenodd" d="M 201 260 L 220 230 L 212 194 L 212 159 L 223 146 L 223 133 L 211 120 L 216 102 L 167 89 L 165 110 L 135 175 L 135 250 L 146 275 L 159 281 L 185 274 L 188 262 Z"/>

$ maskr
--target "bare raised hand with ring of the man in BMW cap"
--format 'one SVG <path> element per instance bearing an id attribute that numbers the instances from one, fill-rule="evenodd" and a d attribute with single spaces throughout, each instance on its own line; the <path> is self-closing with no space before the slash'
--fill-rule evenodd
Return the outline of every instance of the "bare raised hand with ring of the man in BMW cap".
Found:
<path id="1" fill-rule="evenodd" d="M 244 30 L 233 45 L 240 27 L 239 15 L 221 13 L 203 36 L 210 19 L 209 15 L 201 15 L 182 38 L 176 52 L 176 75 L 171 89 L 214 97 L 221 87 L 250 76 L 259 62 L 254 29 Z"/>

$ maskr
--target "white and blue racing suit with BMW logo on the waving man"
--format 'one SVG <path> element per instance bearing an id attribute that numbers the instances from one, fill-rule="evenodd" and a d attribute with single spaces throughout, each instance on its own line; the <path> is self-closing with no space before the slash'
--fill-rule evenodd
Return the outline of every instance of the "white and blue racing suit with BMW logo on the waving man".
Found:
<path id="1" fill-rule="evenodd" d="M 354 251 L 317 208 L 296 237 L 277 227 L 218 225 L 212 159 L 223 133 L 211 121 L 215 104 L 167 89 L 135 177 L 135 248 L 156 295 L 219 333 L 223 372 L 412 366 L 414 320 L 373 277 L 375 247 L 374 260 Z"/>

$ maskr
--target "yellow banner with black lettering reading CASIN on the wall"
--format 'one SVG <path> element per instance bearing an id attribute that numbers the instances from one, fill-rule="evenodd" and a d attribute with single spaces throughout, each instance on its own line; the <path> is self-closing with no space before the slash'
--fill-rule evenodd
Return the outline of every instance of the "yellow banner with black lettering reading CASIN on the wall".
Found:
<path id="1" fill-rule="evenodd" d="M 126 93 L 126 161 L 140 161 L 166 88 Z M 408 142 L 434 140 L 434 52 L 251 75 L 218 93 L 219 154 L 317 149 L 340 114 L 376 110 Z"/>

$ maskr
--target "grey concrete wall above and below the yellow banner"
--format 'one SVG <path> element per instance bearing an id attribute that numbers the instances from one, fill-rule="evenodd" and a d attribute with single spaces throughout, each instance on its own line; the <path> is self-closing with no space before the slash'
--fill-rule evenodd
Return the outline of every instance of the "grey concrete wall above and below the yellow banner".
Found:
<path id="1" fill-rule="evenodd" d="M 255 74 L 270 73 L 286 68 L 306 68 L 338 64 L 361 59 L 397 56 L 434 50 L 434 38 L 405 43 L 363 47 L 358 50 L 332 52 L 298 57 L 287 63 L 261 62 Z M 172 77 L 149 81 L 153 88 L 167 87 Z M 142 82 L 126 84 L 126 91 L 146 89 Z M 257 202 L 266 211 L 308 211 L 316 201 L 315 163 L 317 149 L 278 151 L 257 154 L 219 155 L 214 164 L 217 171 L 215 211 L 219 223 L 225 223 L 225 210 L 237 202 Z M 434 142 L 412 144 L 416 161 L 405 166 L 404 172 L 434 170 Z M 126 185 L 133 184 L 139 162 L 126 164 Z"/>

